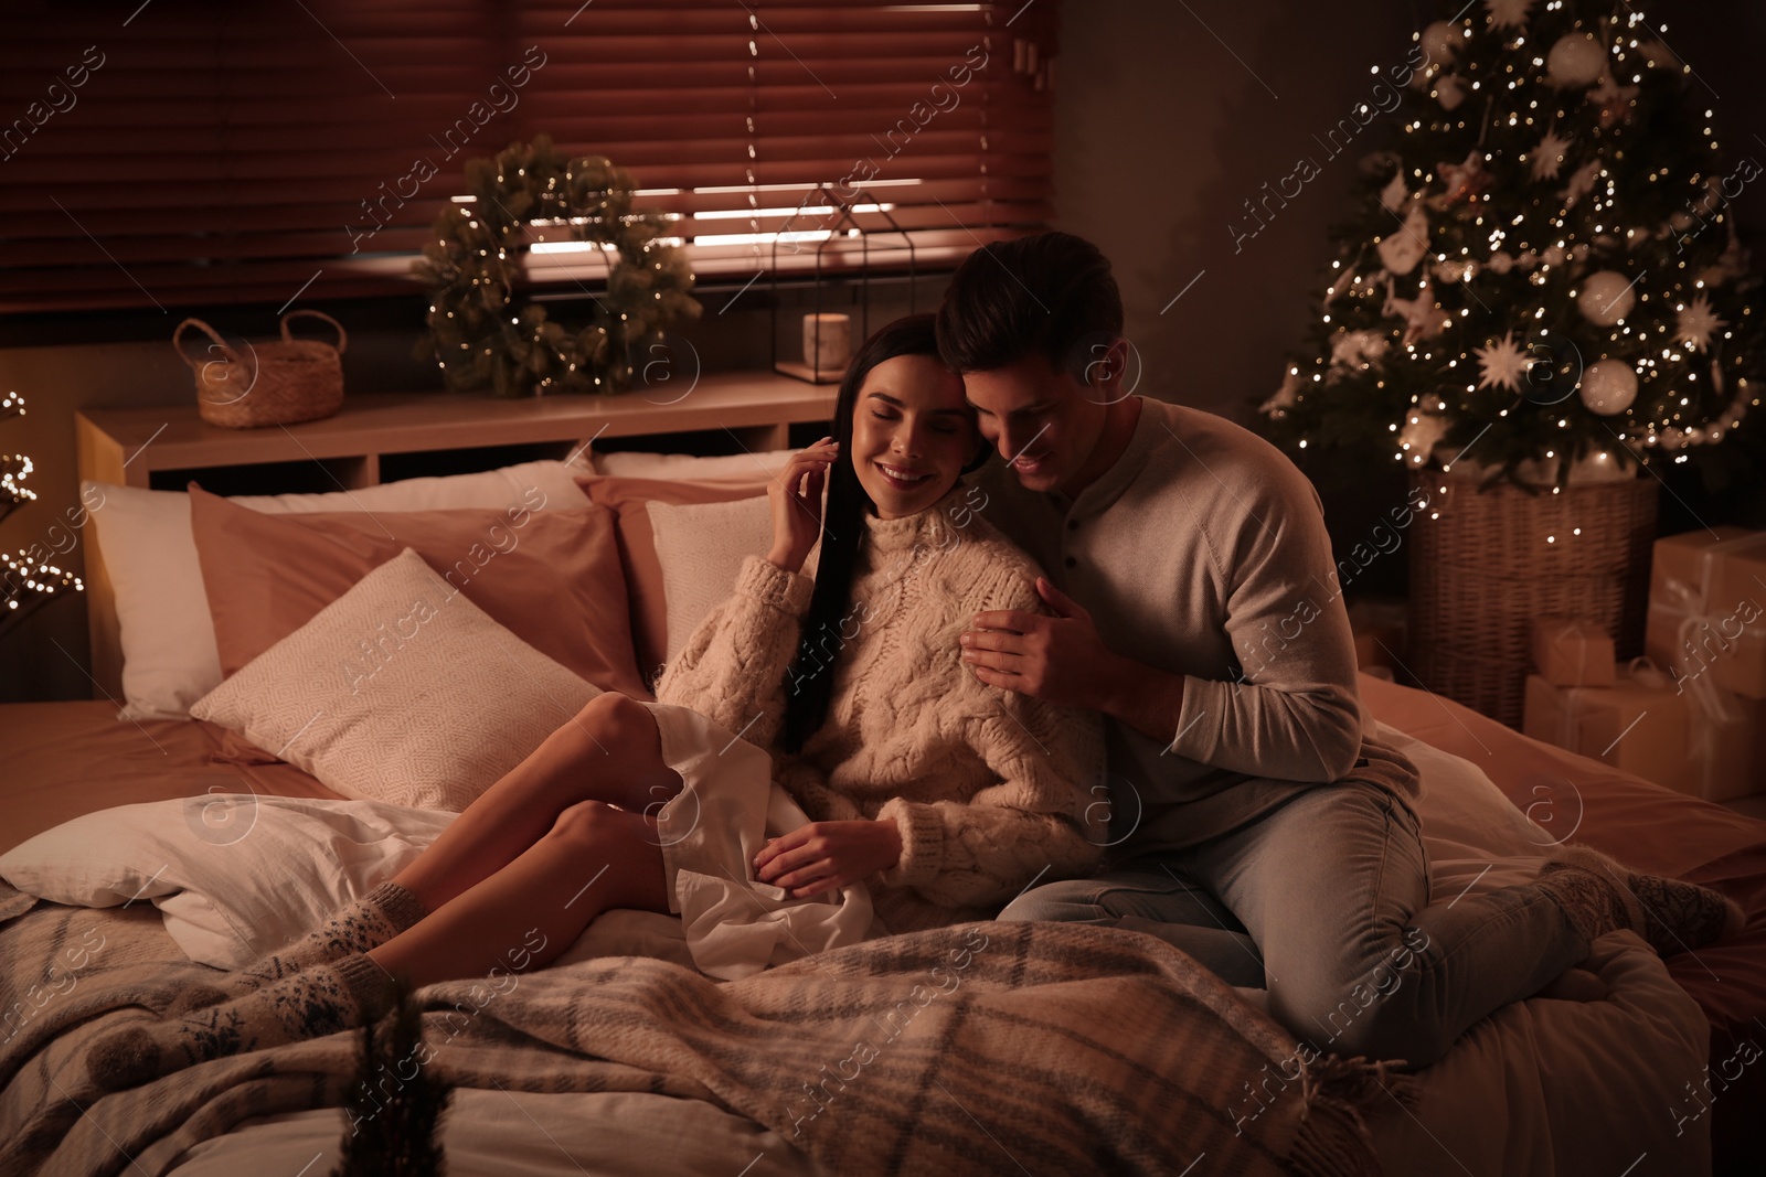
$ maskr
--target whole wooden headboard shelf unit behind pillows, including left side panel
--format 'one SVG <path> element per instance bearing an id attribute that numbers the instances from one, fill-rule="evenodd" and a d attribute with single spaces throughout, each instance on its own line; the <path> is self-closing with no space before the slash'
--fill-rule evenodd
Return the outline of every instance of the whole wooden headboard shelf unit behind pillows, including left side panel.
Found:
<path id="1" fill-rule="evenodd" d="M 422 475 L 567 459 L 595 448 L 687 454 L 779 450 L 791 427 L 834 420 L 834 385 L 774 372 L 715 372 L 689 385 L 615 397 L 498 401 L 442 392 L 350 394 L 334 416 L 263 429 L 208 425 L 196 404 L 87 409 L 74 415 L 79 476 L 215 494 L 284 494 L 369 487 Z M 648 439 L 648 445 L 645 445 Z M 613 445 L 602 445 L 611 441 Z M 85 547 L 94 697 L 122 695 L 115 593 L 95 545 Z"/>

